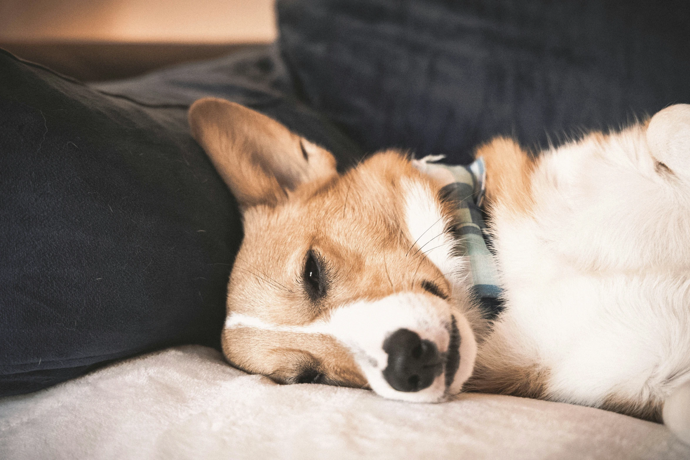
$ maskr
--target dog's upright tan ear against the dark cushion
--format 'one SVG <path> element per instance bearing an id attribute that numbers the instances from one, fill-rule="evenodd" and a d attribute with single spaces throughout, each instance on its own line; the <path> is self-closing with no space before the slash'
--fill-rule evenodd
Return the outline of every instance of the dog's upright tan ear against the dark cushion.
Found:
<path id="1" fill-rule="evenodd" d="M 194 139 L 242 209 L 275 205 L 300 184 L 337 174 L 330 152 L 237 103 L 199 99 L 188 118 Z"/>

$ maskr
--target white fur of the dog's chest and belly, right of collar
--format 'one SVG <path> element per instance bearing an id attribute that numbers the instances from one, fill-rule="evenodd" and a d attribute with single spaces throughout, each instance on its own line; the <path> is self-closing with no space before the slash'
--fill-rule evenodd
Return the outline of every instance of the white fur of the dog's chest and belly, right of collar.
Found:
<path id="1" fill-rule="evenodd" d="M 689 106 L 669 108 L 545 152 L 531 213 L 495 210 L 507 302 L 489 340 L 549 369 L 550 399 L 663 401 L 690 381 L 689 159 Z"/>

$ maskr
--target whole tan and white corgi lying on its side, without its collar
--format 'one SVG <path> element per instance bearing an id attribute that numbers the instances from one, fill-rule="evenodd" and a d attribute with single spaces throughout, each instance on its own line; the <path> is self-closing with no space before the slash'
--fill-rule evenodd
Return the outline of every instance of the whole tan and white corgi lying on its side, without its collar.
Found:
<path id="1" fill-rule="evenodd" d="M 222 333 L 233 366 L 402 401 L 663 410 L 690 442 L 690 106 L 538 156 L 504 138 L 477 149 L 495 317 L 431 163 L 388 150 L 339 174 L 324 148 L 221 99 L 189 121 L 244 221 Z"/>

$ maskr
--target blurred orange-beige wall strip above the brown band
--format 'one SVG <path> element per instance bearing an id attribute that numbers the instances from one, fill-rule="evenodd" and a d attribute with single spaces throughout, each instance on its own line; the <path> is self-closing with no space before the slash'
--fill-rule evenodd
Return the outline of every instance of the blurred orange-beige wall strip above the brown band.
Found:
<path id="1" fill-rule="evenodd" d="M 0 41 L 273 41 L 273 2 L 0 0 Z"/>

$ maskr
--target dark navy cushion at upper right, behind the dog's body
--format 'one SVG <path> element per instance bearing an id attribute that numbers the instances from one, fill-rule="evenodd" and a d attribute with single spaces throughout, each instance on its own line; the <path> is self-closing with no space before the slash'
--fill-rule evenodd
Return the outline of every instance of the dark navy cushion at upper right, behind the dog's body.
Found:
<path id="1" fill-rule="evenodd" d="M 690 2 L 278 0 L 295 88 L 366 150 L 466 163 L 689 103 Z"/>

